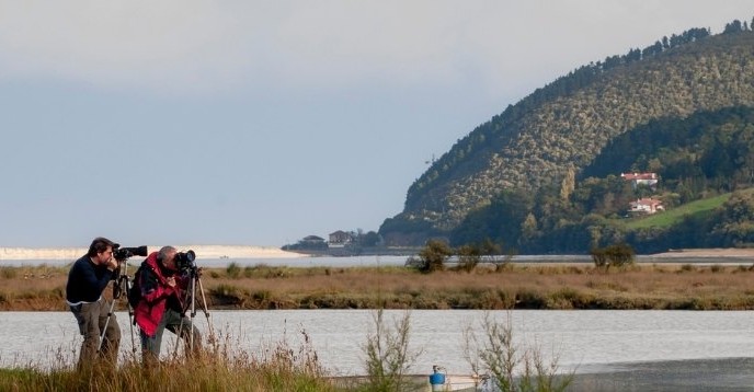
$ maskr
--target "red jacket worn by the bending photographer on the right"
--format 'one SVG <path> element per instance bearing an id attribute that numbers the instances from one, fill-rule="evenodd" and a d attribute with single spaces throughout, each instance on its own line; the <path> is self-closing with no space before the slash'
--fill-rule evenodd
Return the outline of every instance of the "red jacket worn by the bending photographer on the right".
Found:
<path id="1" fill-rule="evenodd" d="M 158 252 L 152 252 L 141 263 L 142 268 L 140 268 L 139 276 L 137 277 L 139 279 L 139 288 L 141 289 L 141 300 L 134 309 L 134 320 L 141 328 L 141 332 L 148 336 L 155 336 L 157 325 L 160 324 L 162 314 L 164 314 L 168 305 L 168 299 L 175 297 L 180 302 L 181 288 L 185 288 L 185 281 L 180 279 L 180 274 L 178 273 L 174 275 L 176 278 L 175 287 L 168 285 L 168 276 L 162 274 L 163 268 L 158 265 L 157 254 Z M 155 278 L 157 278 L 157 286 L 153 281 Z"/>

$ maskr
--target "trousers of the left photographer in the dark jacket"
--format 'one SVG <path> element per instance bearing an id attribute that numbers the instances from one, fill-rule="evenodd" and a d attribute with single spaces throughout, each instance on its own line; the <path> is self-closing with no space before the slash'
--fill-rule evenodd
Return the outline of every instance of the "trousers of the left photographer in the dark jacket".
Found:
<path id="1" fill-rule="evenodd" d="M 79 362 L 77 368 L 82 369 L 95 364 L 98 357 L 106 360 L 107 364 L 115 365 L 117 361 L 118 346 L 121 345 L 121 327 L 115 320 L 115 313 L 107 322 L 110 302 L 100 299 L 96 302 L 80 303 L 70 307 L 76 321 L 79 323 L 79 332 L 83 335 Z M 107 324 L 102 347 L 100 347 L 100 335 Z"/>

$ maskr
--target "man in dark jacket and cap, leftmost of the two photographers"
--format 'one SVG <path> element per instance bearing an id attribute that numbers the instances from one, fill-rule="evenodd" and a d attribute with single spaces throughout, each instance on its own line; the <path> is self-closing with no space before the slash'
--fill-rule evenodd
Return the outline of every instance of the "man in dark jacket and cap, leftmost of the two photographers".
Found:
<path id="1" fill-rule="evenodd" d="M 113 258 L 115 243 L 106 238 L 95 238 L 89 252 L 73 263 L 66 284 L 66 303 L 70 308 L 83 343 L 79 353 L 79 369 L 91 367 L 99 357 L 115 365 L 121 344 L 121 327 L 115 314 L 107 321 L 110 301 L 102 298 L 102 292 L 111 280 L 117 278 L 117 261 Z M 102 330 L 107 325 L 104 339 L 100 343 Z M 99 348 L 99 353 L 98 353 Z"/>

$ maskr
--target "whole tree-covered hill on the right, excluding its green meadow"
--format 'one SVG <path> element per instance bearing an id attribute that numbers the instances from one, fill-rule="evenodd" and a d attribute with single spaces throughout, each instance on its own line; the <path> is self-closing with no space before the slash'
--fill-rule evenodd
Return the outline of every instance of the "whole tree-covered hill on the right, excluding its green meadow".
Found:
<path id="1" fill-rule="evenodd" d="M 380 234 L 392 245 L 491 239 L 522 253 L 665 246 L 671 229 L 627 229 L 628 203 L 656 193 L 674 208 L 751 186 L 752 107 L 745 22 L 663 37 L 581 67 L 477 127 L 411 185 Z M 619 174 L 632 171 L 658 173 L 659 188 L 631 188 Z"/>

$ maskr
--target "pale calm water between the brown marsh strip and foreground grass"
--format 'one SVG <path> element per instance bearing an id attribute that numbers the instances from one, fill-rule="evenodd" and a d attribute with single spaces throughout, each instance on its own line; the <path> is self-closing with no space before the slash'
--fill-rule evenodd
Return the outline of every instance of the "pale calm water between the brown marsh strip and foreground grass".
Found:
<path id="1" fill-rule="evenodd" d="M 404 311 L 387 311 L 392 325 Z M 430 372 L 441 365 L 449 373 L 469 373 L 464 359 L 464 330 L 480 332 L 483 311 L 411 311 L 411 350 L 419 351 L 411 371 Z M 576 372 L 612 371 L 631 362 L 754 357 L 754 312 L 693 311 L 532 311 L 490 312 L 498 320 L 510 314 L 517 343 L 558 354 L 559 364 Z M 235 347 L 256 354 L 284 339 L 301 347 L 310 337 L 321 364 L 331 374 L 362 374 L 363 350 L 373 331 L 375 311 L 209 311 L 217 333 Z M 123 332 L 122 354 L 132 350 L 128 314 L 117 313 Z M 2 312 L 0 365 L 59 364 L 75 360 L 80 336 L 69 312 Z M 195 322 L 206 333 L 207 318 Z M 174 346 L 165 334 L 163 354 Z M 137 342 L 138 345 L 138 342 Z M 56 353 L 60 353 L 60 355 Z"/>

